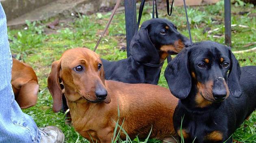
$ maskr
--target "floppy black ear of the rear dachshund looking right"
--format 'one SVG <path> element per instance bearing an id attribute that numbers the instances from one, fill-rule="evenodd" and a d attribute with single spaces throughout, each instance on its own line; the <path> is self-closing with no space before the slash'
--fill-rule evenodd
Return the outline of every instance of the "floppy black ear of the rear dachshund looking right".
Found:
<path id="1" fill-rule="evenodd" d="M 150 61 L 159 61 L 159 55 L 156 54 L 158 51 L 150 40 L 148 28 L 140 29 L 133 36 L 130 44 L 130 53 L 139 62 L 149 63 Z"/>

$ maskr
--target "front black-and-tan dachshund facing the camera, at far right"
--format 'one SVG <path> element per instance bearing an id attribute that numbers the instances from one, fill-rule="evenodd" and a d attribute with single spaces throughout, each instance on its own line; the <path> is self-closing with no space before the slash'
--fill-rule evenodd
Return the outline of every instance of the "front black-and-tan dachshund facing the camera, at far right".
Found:
<path id="1" fill-rule="evenodd" d="M 185 143 L 232 143 L 232 133 L 256 108 L 256 66 L 240 68 L 230 48 L 216 42 L 184 48 L 165 78 L 180 99 L 173 120 Z"/>

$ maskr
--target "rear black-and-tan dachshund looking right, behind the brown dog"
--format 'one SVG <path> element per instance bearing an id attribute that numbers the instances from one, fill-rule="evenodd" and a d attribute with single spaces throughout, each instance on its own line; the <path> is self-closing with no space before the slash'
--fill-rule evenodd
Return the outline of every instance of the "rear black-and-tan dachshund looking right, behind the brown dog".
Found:
<path id="1" fill-rule="evenodd" d="M 189 39 L 180 34 L 169 20 L 150 19 L 142 23 L 132 38 L 130 57 L 119 61 L 102 59 L 105 78 L 126 83 L 157 84 L 167 56 L 176 55 L 189 45 Z"/>

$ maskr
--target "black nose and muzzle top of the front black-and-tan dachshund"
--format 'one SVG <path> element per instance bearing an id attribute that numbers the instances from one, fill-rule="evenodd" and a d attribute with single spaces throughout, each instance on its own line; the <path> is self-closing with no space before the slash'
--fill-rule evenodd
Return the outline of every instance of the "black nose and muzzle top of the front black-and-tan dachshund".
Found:
<path id="1" fill-rule="evenodd" d="M 217 78 L 213 85 L 213 97 L 216 101 L 223 101 L 227 96 L 227 90 L 223 78 Z"/>

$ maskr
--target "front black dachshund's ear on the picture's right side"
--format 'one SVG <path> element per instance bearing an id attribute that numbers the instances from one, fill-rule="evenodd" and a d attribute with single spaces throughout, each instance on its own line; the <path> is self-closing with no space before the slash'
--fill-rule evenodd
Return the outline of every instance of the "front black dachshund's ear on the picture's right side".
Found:
<path id="1" fill-rule="evenodd" d="M 239 84 L 239 80 L 241 76 L 241 68 L 236 57 L 231 52 L 231 50 L 229 50 L 229 52 L 231 57 L 231 64 L 230 64 L 231 67 L 228 74 L 228 87 L 231 95 L 233 95 L 236 98 L 239 98 L 242 95 L 242 89 Z"/>

